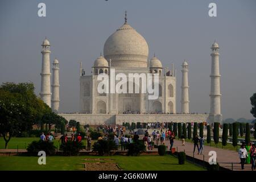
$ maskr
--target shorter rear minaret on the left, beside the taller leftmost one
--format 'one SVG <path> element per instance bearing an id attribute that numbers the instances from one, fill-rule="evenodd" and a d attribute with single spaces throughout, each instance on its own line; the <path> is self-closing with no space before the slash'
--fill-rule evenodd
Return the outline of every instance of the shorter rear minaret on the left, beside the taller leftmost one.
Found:
<path id="1" fill-rule="evenodd" d="M 57 113 L 60 106 L 59 61 L 52 63 L 52 111 Z"/>

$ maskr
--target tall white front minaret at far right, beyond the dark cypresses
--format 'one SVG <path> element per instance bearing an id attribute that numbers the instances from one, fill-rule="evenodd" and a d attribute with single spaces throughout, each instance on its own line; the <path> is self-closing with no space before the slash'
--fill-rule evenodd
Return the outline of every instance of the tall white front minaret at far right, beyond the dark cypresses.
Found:
<path id="1" fill-rule="evenodd" d="M 212 44 L 212 73 L 210 75 L 210 122 L 222 122 L 221 93 L 220 93 L 220 67 L 218 62 L 218 44 Z"/>

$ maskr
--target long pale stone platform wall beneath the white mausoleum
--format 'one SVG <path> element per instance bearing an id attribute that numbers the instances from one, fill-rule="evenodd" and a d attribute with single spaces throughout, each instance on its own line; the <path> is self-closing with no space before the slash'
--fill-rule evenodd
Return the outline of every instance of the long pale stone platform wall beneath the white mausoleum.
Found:
<path id="1" fill-rule="evenodd" d="M 209 122 L 208 114 L 59 114 L 81 125 L 112 125 L 123 122 Z"/>

